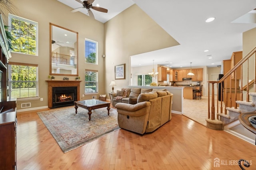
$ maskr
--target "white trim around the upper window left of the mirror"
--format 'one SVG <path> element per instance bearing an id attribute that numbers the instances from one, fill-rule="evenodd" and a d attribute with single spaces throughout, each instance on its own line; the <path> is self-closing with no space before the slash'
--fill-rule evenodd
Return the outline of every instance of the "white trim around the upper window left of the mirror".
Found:
<path id="1" fill-rule="evenodd" d="M 15 51 L 11 51 L 12 53 L 18 53 L 18 54 L 25 54 L 25 55 L 32 55 L 32 56 L 38 56 L 38 22 L 35 22 L 35 21 L 32 21 L 32 20 L 29 20 L 29 19 L 26 19 L 26 18 L 23 18 L 23 17 L 20 17 L 20 16 L 16 16 L 16 15 L 13 15 L 13 14 L 9 14 L 9 21 L 8 21 L 8 24 L 9 24 L 9 29 L 8 31 L 9 32 L 12 32 L 12 18 L 16 18 L 18 20 L 22 20 L 24 22 L 30 22 L 31 24 L 35 24 L 36 25 L 36 54 L 33 55 L 33 54 L 27 54 L 27 53 L 21 53 L 21 52 L 15 52 Z"/>

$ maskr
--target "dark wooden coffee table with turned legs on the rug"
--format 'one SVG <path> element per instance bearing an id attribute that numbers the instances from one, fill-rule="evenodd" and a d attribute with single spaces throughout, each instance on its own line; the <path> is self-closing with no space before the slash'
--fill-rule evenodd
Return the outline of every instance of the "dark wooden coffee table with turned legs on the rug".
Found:
<path id="1" fill-rule="evenodd" d="M 83 100 L 83 101 L 75 101 L 74 103 L 75 103 L 76 113 L 77 113 L 77 108 L 78 107 L 82 107 L 82 108 L 88 110 L 89 121 L 91 120 L 92 110 L 94 110 L 94 109 L 107 107 L 108 115 L 109 115 L 109 110 L 110 110 L 110 103 L 109 102 L 100 101 L 100 100 L 97 100 L 97 99 L 90 99 L 90 100 Z"/>

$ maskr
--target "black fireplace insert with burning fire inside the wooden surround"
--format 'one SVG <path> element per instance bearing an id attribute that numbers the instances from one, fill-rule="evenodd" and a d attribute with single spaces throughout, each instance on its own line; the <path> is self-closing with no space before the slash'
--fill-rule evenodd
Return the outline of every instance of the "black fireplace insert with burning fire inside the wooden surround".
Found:
<path id="1" fill-rule="evenodd" d="M 74 105 L 77 101 L 77 87 L 52 87 L 52 108 Z"/>

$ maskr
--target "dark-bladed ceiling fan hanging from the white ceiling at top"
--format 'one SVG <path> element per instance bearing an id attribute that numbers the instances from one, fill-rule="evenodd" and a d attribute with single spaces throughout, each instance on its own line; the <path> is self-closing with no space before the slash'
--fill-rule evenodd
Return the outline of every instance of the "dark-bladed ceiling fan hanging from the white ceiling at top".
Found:
<path id="1" fill-rule="evenodd" d="M 108 12 L 108 10 L 105 9 L 105 8 L 101 8 L 101 7 L 98 7 L 98 6 L 92 6 L 92 3 L 94 2 L 94 0 L 84 0 L 83 2 L 80 1 L 80 0 L 76 0 L 76 1 L 81 3 L 83 6 L 79 7 L 79 8 L 76 8 L 74 10 L 71 10 L 71 12 L 78 12 L 78 11 L 82 10 L 83 8 L 86 8 L 88 10 L 88 15 L 90 17 L 93 17 L 93 18 L 94 18 L 94 15 L 93 15 L 93 13 L 90 9 L 94 9 L 94 10 L 99 11 L 99 12 L 105 12 L 105 13 Z"/>

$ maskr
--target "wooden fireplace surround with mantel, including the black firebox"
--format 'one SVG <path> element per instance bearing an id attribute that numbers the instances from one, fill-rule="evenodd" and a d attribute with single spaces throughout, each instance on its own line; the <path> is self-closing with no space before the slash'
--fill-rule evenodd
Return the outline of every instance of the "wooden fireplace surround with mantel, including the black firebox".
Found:
<path id="1" fill-rule="evenodd" d="M 72 106 L 74 101 L 79 101 L 81 81 L 46 80 L 46 82 L 50 109 Z"/>

